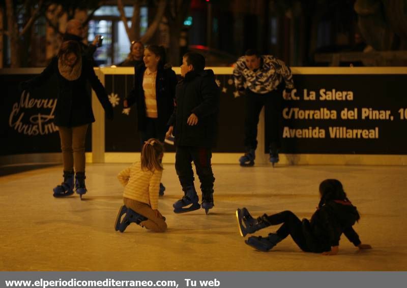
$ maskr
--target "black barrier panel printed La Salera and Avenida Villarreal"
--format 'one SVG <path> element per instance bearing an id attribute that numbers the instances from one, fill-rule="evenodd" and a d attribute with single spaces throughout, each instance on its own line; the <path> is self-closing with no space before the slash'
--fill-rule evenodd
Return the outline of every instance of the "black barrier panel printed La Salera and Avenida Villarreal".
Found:
<path id="1" fill-rule="evenodd" d="M 281 152 L 407 154 L 407 74 L 294 75 L 294 83 Z M 269 129 L 266 120 L 266 139 Z"/>

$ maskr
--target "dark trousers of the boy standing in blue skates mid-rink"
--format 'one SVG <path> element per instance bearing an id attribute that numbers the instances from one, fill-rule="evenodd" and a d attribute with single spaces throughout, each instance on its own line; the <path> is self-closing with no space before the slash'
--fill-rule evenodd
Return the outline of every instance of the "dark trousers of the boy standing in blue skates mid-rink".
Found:
<path id="1" fill-rule="evenodd" d="M 203 147 L 177 146 L 175 169 L 183 188 L 194 184 L 192 162 L 200 181 L 202 194 L 212 193 L 215 177 L 212 172 L 212 149 Z"/>

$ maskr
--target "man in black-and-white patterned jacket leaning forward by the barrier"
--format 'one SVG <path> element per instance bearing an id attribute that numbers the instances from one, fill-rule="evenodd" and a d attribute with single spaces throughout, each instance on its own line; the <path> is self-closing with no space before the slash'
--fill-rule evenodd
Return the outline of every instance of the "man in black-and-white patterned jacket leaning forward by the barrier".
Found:
<path id="1" fill-rule="evenodd" d="M 285 63 L 272 55 L 260 55 L 249 49 L 238 59 L 233 71 L 235 85 L 240 94 L 246 94 L 245 141 L 246 153 L 240 157 L 241 166 L 253 166 L 257 148 L 257 123 L 261 108 L 265 106 L 266 133 L 270 143 L 270 162 L 278 162 L 279 120 L 281 95 L 287 98 L 294 88 L 293 75 Z M 282 81 L 285 82 L 285 90 Z"/>

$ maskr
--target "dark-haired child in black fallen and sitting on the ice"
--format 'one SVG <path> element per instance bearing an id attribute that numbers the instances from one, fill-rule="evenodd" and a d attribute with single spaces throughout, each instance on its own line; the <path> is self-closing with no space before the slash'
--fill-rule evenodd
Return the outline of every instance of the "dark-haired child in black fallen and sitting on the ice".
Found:
<path id="1" fill-rule="evenodd" d="M 245 243 L 266 252 L 291 235 L 303 251 L 336 255 L 343 233 L 359 249 L 371 249 L 370 245 L 360 242 L 358 234 L 352 228 L 360 216 L 356 207 L 347 199 L 342 183 L 336 179 L 326 179 L 319 184 L 319 193 L 321 201 L 310 221 L 301 221 L 291 211 L 271 216 L 264 214 L 254 219 L 246 208 L 238 209 L 236 216 L 242 236 L 271 225 L 283 224 L 276 233 L 270 233 L 268 237 L 251 236 Z"/>

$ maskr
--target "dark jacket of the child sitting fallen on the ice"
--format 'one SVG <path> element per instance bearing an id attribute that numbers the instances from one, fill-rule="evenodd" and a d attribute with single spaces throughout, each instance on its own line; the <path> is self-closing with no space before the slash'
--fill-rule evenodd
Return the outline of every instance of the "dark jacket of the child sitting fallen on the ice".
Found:
<path id="1" fill-rule="evenodd" d="M 359 219 L 356 207 L 349 201 L 332 200 L 317 209 L 311 220 L 303 219 L 303 232 L 312 252 L 330 251 L 339 245 L 342 233 L 355 246 L 361 242 L 352 226 Z"/>

